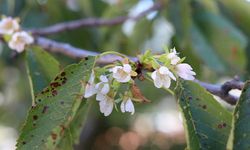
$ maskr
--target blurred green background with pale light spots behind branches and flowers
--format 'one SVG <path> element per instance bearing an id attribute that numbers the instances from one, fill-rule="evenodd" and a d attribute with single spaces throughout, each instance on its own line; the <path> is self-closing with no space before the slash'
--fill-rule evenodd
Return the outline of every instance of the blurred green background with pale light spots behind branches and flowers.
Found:
<path id="1" fill-rule="evenodd" d="M 20 17 L 24 29 L 82 18 L 136 16 L 154 0 L 0 0 L 0 14 Z M 138 21 L 112 27 L 85 27 L 48 36 L 92 51 L 137 55 L 176 47 L 186 56 L 197 78 L 220 83 L 250 75 L 250 1 L 161 0 L 162 8 Z M 52 54 L 62 67 L 79 60 Z M 16 55 L 0 43 L 0 149 L 15 148 L 19 130 L 31 106 L 25 54 Z M 185 133 L 175 99 L 147 82 L 140 88 L 151 100 L 136 104 L 136 113 L 114 111 L 103 117 L 96 103 L 75 149 L 182 150 Z M 219 100 L 222 102 L 221 100 Z M 222 102 L 223 103 L 223 102 Z M 229 105 L 223 103 L 226 107 Z"/>

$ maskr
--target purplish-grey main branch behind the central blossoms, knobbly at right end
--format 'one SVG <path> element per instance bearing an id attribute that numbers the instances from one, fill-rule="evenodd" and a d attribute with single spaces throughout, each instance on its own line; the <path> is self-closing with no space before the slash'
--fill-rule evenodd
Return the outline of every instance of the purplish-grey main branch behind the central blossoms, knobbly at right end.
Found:
<path id="1" fill-rule="evenodd" d="M 47 51 L 53 53 L 61 53 L 72 58 L 85 58 L 87 56 L 96 56 L 99 54 L 97 52 L 76 48 L 67 43 L 56 42 L 42 37 L 37 37 L 35 44 L 41 46 Z M 129 58 L 134 62 L 139 61 L 137 57 L 129 57 Z M 97 62 L 100 64 L 109 64 L 118 60 L 120 61 L 122 60 L 122 58 L 117 55 L 105 55 L 101 57 Z M 207 89 L 207 91 L 209 91 L 210 93 L 219 96 L 221 99 L 223 99 L 224 101 L 226 101 L 231 105 L 235 105 L 239 98 L 234 95 L 231 95 L 229 91 L 232 89 L 242 90 L 244 85 L 244 83 L 239 81 L 237 78 L 234 78 L 233 80 L 225 82 L 224 84 L 220 85 L 206 83 L 199 80 L 195 80 L 195 82 L 200 84 L 205 89 Z"/>

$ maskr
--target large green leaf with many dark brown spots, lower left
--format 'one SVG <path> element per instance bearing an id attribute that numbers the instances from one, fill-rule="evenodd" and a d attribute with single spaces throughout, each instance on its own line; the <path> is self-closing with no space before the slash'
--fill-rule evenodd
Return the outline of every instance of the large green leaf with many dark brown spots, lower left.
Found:
<path id="1" fill-rule="evenodd" d="M 84 91 L 82 81 L 88 80 L 94 64 L 95 57 L 89 57 L 66 67 L 36 96 L 37 104 L 29 111 L 17 149 L 55 149 L 75 118 Z"/>

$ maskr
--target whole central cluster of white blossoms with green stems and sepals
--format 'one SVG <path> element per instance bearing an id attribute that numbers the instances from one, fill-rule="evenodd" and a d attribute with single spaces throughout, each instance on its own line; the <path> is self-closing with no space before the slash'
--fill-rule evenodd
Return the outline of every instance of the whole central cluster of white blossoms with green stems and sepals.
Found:
<path id="1" fill-rule="evenodd" d="M 140 79 L 143 70 L 149 70 L 150 72 L 144 75 L 151 77 L 157 88 L 170 88 L 171 80 L 176 81 L 178 77 L 193 80 L 195 72 L 189 64 L 182 63 L 183 61 L 184 59 L 178 56 L 176 50 L 172 49 L 170 52 L 156 56 L 150 52 L 145 53 L 140 57 L 142 68 L 138 68 L 136 62 L 129 62 L 128 59 L 116 65 L 95 68 L 85 85 L 84 97 L 90 98 L 96 95 L 95 99 L 99 102 L 100 112 L 104 116 L 110 115 L 119 102 L 121 102 L 121 112 L 134 114 L 133 101 L 149 101 L 135 85 L 136 77 Z M 138 69 L 141 70 L 138 71 Z M 140 74 L 138 75 L 134 70 Z M 127 88 L 121 92 L 122 85 Z"/>

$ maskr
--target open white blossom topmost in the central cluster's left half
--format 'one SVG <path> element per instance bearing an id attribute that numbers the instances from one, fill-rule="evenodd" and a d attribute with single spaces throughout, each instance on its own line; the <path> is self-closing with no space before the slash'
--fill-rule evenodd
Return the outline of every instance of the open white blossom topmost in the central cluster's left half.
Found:
<path id="1" fill-rule="evenodd" d="M 137 73 L 134 72 L 129 64 L 124 64 L 123 66 L 116 66 L 112 69 L 113 77 L 118 82 L 129 82 L 131 76 L 136 76 Z"/>

